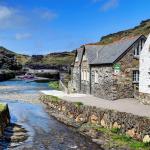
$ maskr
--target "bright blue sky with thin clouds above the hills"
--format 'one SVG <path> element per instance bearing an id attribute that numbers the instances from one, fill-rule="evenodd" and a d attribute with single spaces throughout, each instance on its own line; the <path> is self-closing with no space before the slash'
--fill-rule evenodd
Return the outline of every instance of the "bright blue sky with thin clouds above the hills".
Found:
<path id="1" fill-rule="evenodd" d="M 150 19 L 150 0 L 0 0 L 0 46 L 21 54 L 71 51 Z"/>

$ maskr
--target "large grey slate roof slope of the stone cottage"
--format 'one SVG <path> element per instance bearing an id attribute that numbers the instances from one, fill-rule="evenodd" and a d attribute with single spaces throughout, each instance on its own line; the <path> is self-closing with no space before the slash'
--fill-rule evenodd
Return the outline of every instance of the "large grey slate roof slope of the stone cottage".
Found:
<path id="1" fill-rule="evenodd" d="M 88 63 L 89 64 L 113 64 L 140 37 L 142 36 L 122 39 L 108 45 L 85 45 Z"/>

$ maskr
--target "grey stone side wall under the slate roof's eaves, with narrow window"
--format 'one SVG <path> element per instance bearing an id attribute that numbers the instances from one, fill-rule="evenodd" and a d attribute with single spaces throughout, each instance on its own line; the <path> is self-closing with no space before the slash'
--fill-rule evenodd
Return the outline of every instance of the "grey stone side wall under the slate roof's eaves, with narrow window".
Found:
<path id="1" fill-rule="evenodd" d="M 98 83 L 95 83 L 95 71 L 98 72 Z M 103 99 L 113 99 L 112 66 L 91 67 L 91 94 Z"/>

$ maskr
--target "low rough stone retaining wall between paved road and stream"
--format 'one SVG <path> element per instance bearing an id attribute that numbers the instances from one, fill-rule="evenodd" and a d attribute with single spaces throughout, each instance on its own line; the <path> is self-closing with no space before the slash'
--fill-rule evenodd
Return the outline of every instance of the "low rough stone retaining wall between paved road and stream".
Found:
<path id="1" fill-rule="evenodd" d="M 91 127 L 92 125 L 99 125 L 108 129 L 119 129 L 122 134 L 137 140 L 150 141 L 150 118 L 92 106 L 77 105 L 64 100 L 51 101 L 50 99 L 47 96 L 41 97 L 41 100 L 51 111 L 51 115 L 67 125 L 79 129 L 83 126 L 86 127 L 87 124 L 91 124 Z"/>

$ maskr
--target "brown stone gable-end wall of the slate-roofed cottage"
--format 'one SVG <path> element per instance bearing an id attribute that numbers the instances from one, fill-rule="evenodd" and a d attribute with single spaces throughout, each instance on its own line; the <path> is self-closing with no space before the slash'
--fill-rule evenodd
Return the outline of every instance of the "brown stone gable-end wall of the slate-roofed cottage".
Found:
<path id="1" fill-rule="evenodd" d="M 134 48 L 116 63 L 120 64 L 121 72 L 114 76 L 114 99 L 133 98 L 138 94 L 138 84 L 133 83 L 133 70 L 139 70 L 139 59 L 134 57 Z"/>

